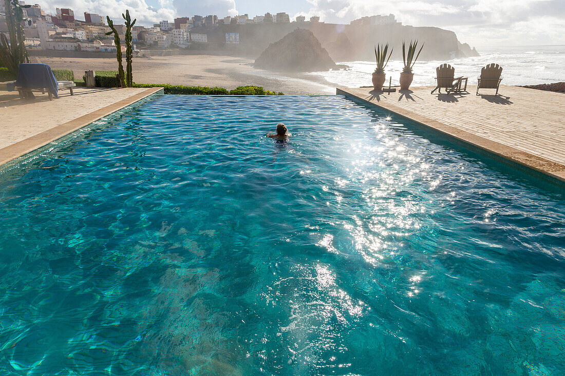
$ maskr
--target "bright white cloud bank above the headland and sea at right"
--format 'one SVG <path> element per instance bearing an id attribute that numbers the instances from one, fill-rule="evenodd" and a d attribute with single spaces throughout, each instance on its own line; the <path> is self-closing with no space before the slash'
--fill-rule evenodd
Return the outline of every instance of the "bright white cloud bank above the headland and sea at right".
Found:
<path id="1" fill-rule="evenodd" d="M 475 45 L 565 44 L 564 0 L 307 0 L 307 17 L 349 23 L 370 15 L 396 15 L 405 25 L 453 30 Z M 297 14 L 298 15 L 298 14 Z"/>

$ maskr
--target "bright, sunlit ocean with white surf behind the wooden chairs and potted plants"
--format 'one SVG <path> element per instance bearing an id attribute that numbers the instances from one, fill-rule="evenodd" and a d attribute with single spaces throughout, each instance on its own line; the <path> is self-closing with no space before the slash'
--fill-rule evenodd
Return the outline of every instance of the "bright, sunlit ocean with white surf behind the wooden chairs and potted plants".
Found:
<path id="1" fill-rule="evenodd" d="M 425 48 L 425 47 L 424 47 Z M 476 84 L 481 68 L 489 63 L 502 66 L 502 84 L 536 85 L 565 81 L 565 45 L 559 46 L 521 46 L 521 47 L 483 47 L 477 48 L 481 56 L 451 60 L 418 61 L 414 66 L 412 86 L 431 86 L 436 77 L 436 67 L 442 63 L 455 68 L 455 76 L 469 77 L 469 84 Z M 355 88 L 371 85 L 371 73 L 375 62 L 340 62 L 349 68 L 339 71 L 306 73 L 312 81 L 327 81 L 335 86 Z M 389 77 L 392 84 L 398 85 L 402 71 L 402 60 L 390 60 L 386 65 L 386 85 Z"/>

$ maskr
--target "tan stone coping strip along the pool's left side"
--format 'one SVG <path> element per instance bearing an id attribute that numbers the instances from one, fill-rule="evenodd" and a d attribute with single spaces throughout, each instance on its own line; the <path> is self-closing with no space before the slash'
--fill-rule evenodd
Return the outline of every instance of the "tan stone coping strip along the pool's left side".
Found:
<path id="1" fill-rule="evenodd" d="M 124 90 L 124 89 L 121 89 Z M 98 108 L 92 112 L 86 113 L 85 115 L 79 116 L 76 119 L 66 121 L 63 124 L 54 126 L 53 128 L 45 129 L 40 133 L 36 133 L 27 137 L 21 141 L 12 143 L 6 147 L 0 148 L 0 166 L 7 164 L 21 156 L 25 156 L 42 146 L 45 146 L 51 142 L 56 141 L 65 135 L 75 132 L 85 126 L 92 124 L 94 121 L 100 120 L 103 117 L 111 115 L 114 112 L 122 110 L 125 107 L 131 106 L 132 104 L 139 102 L 142 99 L 150 97 L 154 94 L 160 94 L 163 92 L 163 88 L 149 88 L 127 97 L 125 99 L 120 99 L 115 103 L 111 103 L 108 106 Z M 56 103 L 56 100 L 52 103 Z"/>

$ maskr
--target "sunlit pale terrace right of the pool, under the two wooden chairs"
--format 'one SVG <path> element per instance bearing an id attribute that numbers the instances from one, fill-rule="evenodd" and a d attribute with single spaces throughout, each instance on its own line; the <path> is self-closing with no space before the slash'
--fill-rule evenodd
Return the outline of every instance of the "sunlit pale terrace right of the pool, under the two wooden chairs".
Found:
<path id="1" fill-rule="evenodd" d="M 518 86 L 468 86 L 468 94 L 430 94 L 432 87 L 376 92 L 338 88 L 345 94 L 408 117 L 539 172 L 565 181 L 565 94 Z"/>

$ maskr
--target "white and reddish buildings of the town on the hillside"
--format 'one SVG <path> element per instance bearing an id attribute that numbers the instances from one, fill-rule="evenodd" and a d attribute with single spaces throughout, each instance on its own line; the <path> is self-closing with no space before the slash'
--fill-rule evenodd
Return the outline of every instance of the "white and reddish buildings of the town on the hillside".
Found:
<path id="1" fill-rule="evenodd" d="M 24 2 L 20 1 L 21 5 Z M 5 14 L 4 3 L 0 2 L 0 14 Z M 115 52 L 114 38 L 106 36 L 110 31 L 106 25 L 106 16 L 84 12 L 84 20 L 75 18 L 75 12 L 69 8 L 56 8 L 55 15 L 47 14 L 38 4 L 24 8 L 25 45 L 28 49 L 60 50 L 60 51 L 92 51 Z M 135 26 L 132 30 L 134 49 L 207 49 L 210 42 L 223 45 L 240 43 L 240 33 L 226 32 L 215 40 L 211 40 L 210 32 L 220 25 L 249 24 L 298 24 L 320 23 L 319 16 L 306 20 L 299 15 L 294 21 L 285 12 L 266 13 L 250 18 L 248 14 L 226 16 L 217 15 L 180 17 L 172 22 L 162 20 L 153 27 Z M 370 16 L 351 21 L 352 25 L 386 25 L 397 23 L 393 14 L 388 16 Z M 115 24 L 116 29 L 124 35 L 124 25 Z M 6 20 L 0 18 L 0 33 L 6 32 Z"/>

